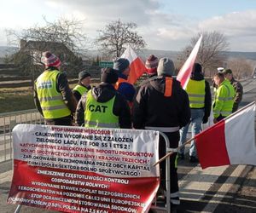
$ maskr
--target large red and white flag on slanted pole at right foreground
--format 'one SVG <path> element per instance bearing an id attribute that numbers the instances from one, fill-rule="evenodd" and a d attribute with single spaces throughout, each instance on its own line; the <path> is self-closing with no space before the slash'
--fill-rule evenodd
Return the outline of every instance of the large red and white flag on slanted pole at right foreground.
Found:
<path id="1" fill-rule="evenodd" d="M 256 165 L 255 101 L 195 135 L 201 168 L 228 164 Z"/>

